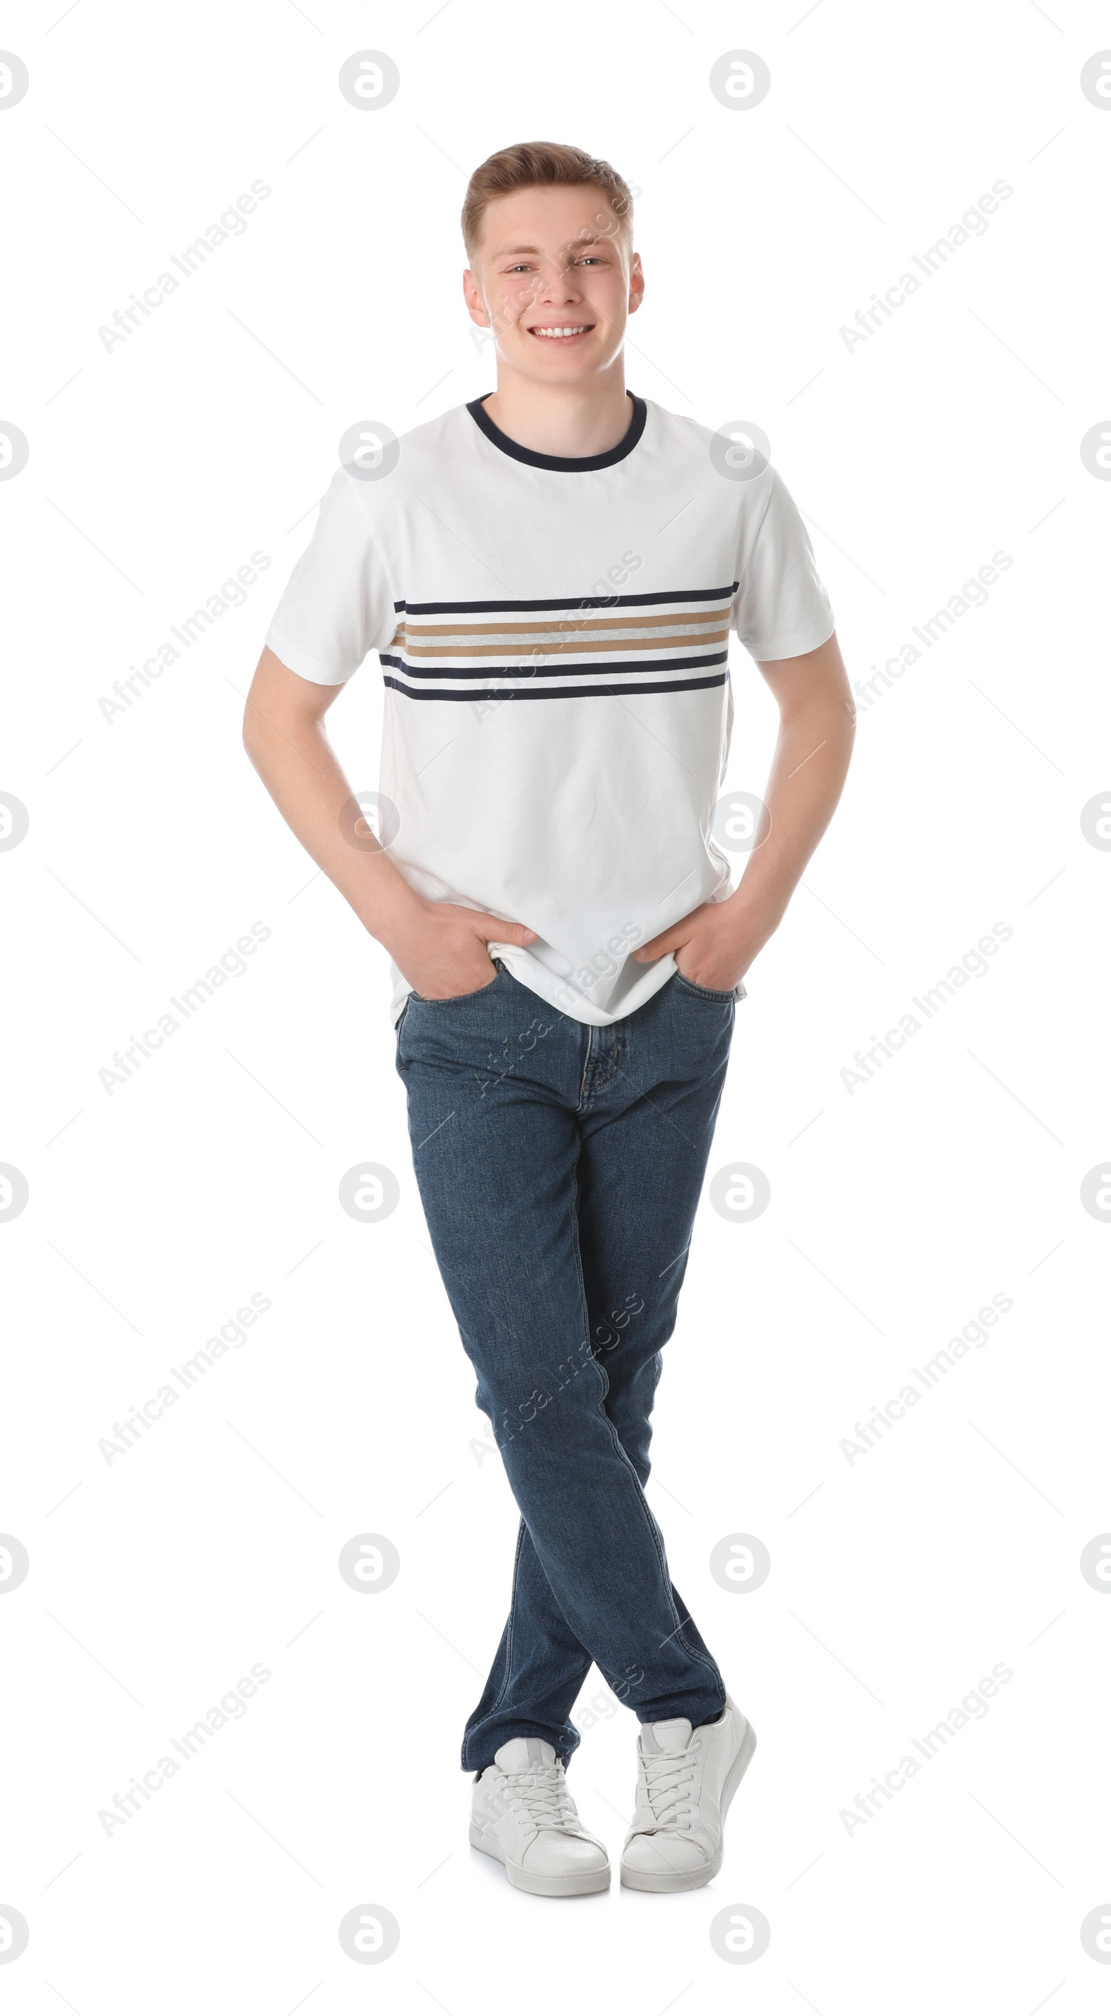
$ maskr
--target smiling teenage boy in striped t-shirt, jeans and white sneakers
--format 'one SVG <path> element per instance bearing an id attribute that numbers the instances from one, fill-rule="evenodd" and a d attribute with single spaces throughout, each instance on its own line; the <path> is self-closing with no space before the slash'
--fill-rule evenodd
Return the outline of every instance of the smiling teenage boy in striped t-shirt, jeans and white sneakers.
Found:
<path id="1" fill-rule="evenodd" d="M 498 389 L 403 435 L 393 468 L 371 446 L 337 472 L 244 722 L 280 812 L 391 954 L 421 1204 L 522 1514 L 462 1746 L 470 1841 L 546 1897 L 609 1885 L 565 1780 L 591 1661 L 641 1724 L 633 1889 L 718 1873 L 756 1744 L 643 1486 L 734 1004 L 833 814 L 853 718 L 774 470 L 625 391 L 631 218 L 579 147 L 476 169 L 464 298 Z M 780 712 L 734 893 L 712 835 L 730 631 Z M 369 651 L 377 837 L 323 726 Z"/>

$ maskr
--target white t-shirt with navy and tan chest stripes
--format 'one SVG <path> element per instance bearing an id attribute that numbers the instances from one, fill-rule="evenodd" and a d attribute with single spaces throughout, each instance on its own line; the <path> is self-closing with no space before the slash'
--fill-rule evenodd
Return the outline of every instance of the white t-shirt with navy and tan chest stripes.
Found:
<path id="1" fill-rule="evenodd" d="M 778 474 L 732 480 L 720 460 L 651 399 L 585 458 L 458 405 L 401 435 L 393 466 L 337 470 L 266 633 L 319 685 L 379 653 L 379 839 L 429 901 L 538 931 L 490 954 L 581 1022 L 649 1000 L 675 962 L 633 948 L 730 895 L 710 831 L 730 631 L 756 659 L 833 631 Z M 411 990 L 391 970 L 397 1020 Z"/>

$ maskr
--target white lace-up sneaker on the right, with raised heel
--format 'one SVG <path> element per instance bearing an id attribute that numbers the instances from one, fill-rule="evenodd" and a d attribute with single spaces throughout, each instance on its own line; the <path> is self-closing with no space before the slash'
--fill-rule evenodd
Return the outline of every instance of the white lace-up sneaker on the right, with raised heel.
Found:
<path id="1" fill-rule="evenodd" d="M 756 1750 L 756 1730 L 726 1693 L 720 1722 L 645 1722 L 637 1740 L 637 1810 L 621 1853 L 627 1889 L 684 1891 L 722 1867 L 730 1800 Z"/>

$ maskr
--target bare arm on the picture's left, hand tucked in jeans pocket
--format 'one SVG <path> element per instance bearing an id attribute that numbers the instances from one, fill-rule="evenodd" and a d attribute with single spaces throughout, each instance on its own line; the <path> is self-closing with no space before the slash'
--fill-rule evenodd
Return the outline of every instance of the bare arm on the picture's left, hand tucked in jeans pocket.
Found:
<path id="1" fill-rule="evenodd" d="M 409 986 L 425 1000 L 472 994 L 494 980 L 488 939 L 530 946 L 536 933 L 482 909 L 427 903 L 399 875 L 361 818 L 325 732 L 341 691 L 298 677 L 266 647 L 246 700 L 244 748 L 286 825 Z"/>

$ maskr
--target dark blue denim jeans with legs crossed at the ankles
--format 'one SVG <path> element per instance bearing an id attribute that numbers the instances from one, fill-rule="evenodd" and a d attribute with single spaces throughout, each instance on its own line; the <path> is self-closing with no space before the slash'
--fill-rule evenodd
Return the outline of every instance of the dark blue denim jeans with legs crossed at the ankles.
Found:
<path id="1" fill-rule="evenodd" d="M 643 1486 L 734 998 L 673 974 L 593 1028 L 496 964 L 476 994 L 411 994 L 397 1024 L 427 1230 L 520 1508 L 464 1770 L 510 1736 L 567 1762 L 591 1661 L 641 1722 L 726 1706 Z"/>

